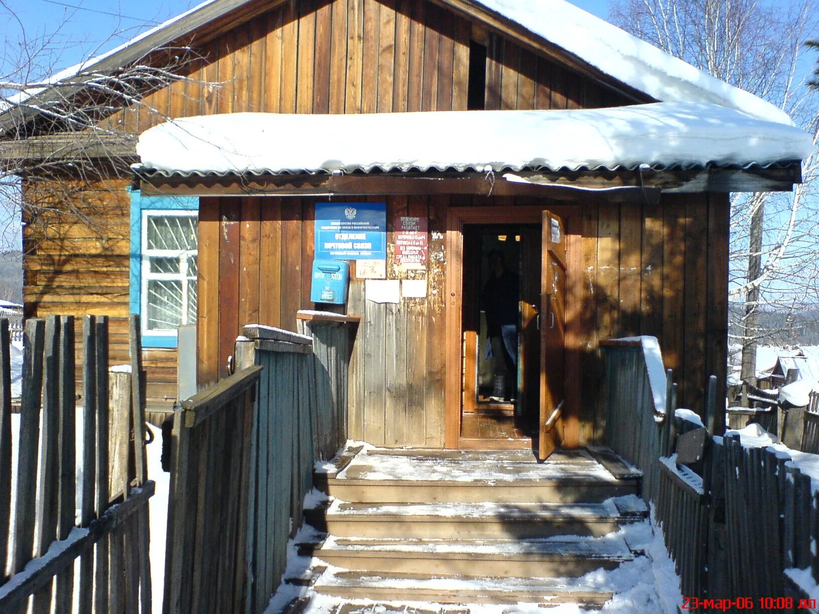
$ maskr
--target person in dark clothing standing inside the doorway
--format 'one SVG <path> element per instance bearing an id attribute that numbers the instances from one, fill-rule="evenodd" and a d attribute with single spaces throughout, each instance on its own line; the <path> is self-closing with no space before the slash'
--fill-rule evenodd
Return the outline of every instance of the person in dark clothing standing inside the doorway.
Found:
<path id="1" fill-rule="evenodd" d="M 486 336 L 492 353 L 494 372 L 491 400 L 509 400 L 517 372 L 518 293 L 517 273 L 506 268 L 503 251 L 492 250 L 489 278 L 481 293 L 481 307 L 486 312 Z"/>

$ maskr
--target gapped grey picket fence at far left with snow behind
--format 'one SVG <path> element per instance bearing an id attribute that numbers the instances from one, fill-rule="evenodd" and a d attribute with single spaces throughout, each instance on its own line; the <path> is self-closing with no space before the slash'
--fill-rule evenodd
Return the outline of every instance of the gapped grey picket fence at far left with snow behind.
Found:
<path id="1" fill-rule="evenodd" d="M 2 612 L 151 612 L 147 504 L 154 483 L 146 475 L 137 317 L 130 328 L 131 364 L 109 373 L 108 319 L 83 320 L 78 437 L 74 318 L 29 319 L 15 436 L 9 324 L 0 319 Z"/>

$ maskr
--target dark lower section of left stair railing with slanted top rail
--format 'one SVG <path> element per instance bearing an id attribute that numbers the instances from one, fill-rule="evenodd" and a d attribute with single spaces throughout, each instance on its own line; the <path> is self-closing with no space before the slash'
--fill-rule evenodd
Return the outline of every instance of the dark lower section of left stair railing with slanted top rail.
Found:
<path id="1" fill-rule="evenodd" d="M 244 612 L 254 400 L 248 367 L 174 413 L 162 612 Z"/>

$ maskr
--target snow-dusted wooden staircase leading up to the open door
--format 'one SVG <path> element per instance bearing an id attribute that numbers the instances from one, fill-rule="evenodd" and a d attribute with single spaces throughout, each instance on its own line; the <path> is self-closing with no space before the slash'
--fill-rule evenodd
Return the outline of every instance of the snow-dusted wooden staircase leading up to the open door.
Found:
<path id="1" fill-rule="evenodd" d="M 323 595 L 322 612 L 337 603 L 332 614 L 408 602 L 417 614 L 600 607 L 613 592 L 593 572 L 642 556 L 618 533 L 648 515 L 641 476 L 603 448 L 559 450 L 546 463 L 518 449 L 347 449 L 317 467 L 331 499 L 305 521 L 328 537 L 298 544 L 313 567 L 288 582 Z"/>

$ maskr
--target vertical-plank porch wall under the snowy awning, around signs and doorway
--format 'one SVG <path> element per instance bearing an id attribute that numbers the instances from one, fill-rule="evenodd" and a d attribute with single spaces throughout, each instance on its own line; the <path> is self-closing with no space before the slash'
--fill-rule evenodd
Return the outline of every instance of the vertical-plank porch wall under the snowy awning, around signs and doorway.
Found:
<path id="1" fill-rule="evenodd" d="M 387 201 L 390 244 L 396 214 L 429 216 L 428 297 L 399 305 L 367 301 L 364 282 L 355 279 L 352 268 L 347 311 L 363 320 L 351 363 L 349 436 L 378 445 L 438 447 L 444 436 L 446 211 L 449 206 L 504 206 L 514 222 L 514 205 L 547 207 L 549 202 L 486 196 L 381 200 Z M 202 382 L 227 374 L 242 325 L 258 317 L 259 323 L 295 330 L 296 310 L 314 309 L 307 273 L 313 258 L 314 202 L 202 199 Z M 582 201 L 569 216 L 568 233 L 578 235 L 580 242 L 581 305 L 568 312 L 579 319 L 573 329 L 581 349 L 581 444 L 602 440 L 598 341 L 603 339 L 658 336 L 666 365 L 680 384 L 680 405 L 700 411 L 708 375 L 725 381 L 727 197 L 666 196 L 660 205 Z M 387 276 L 399 278 L 391 246 Z"/>

